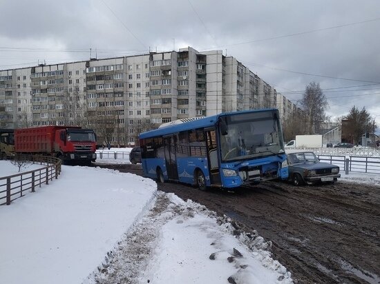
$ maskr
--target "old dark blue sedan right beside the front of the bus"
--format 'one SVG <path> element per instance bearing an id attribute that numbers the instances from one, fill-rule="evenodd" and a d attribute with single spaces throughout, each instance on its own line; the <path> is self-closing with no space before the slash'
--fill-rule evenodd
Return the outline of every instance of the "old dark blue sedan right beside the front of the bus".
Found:
<path id="1" fill-rule="evenodd" d="M 287 154 L 289 181 L 294 185 L 332 182 L 341 177 L 339 166 L 321 163 L 314 152 L 295 152 Z"/>

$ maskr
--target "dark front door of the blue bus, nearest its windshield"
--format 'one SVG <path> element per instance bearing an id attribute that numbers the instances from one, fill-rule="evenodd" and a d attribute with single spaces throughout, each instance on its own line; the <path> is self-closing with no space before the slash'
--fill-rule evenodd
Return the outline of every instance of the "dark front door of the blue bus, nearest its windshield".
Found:
<path id="1" fill-rule="evenodd" d="M 220 169 L 215 129 L 205 130 L 207 137 L 207 159 L 209 160 L 210 181 L 212 185 L 220 185 Z"/>

